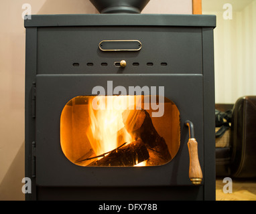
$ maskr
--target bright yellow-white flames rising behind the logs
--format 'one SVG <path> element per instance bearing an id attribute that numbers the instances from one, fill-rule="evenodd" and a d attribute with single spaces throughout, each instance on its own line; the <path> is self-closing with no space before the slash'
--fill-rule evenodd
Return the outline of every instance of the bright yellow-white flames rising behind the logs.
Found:
<path id="1" fill-rule="evenodd" d="M 105 96 L 98 96 L 98 102 L 108 105 L 108 102 L 117 104 L 119 101 L 127 99 L 125 96 L 110 96 L 108 99 L 105 98 Z M 92 108 L 92 102 L 93 98 L 90 98 L 88 102 L 90 126 L 86 134 L 95 154 L 100 155 L 117 148 L 124 142 L 127 142 L 127 144 L 132 142 L 133 139 L 123 124 L 122 113 L 124 108 L 117 108 L 115 106 L 115 108 L 95 110 Z"/>

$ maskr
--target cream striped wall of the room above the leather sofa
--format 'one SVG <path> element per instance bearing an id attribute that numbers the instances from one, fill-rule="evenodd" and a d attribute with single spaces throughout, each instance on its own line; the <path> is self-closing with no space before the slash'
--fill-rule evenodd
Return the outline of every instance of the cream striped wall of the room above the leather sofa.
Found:
<path id="1" fill-rule="evenodd" d="M 203 14 L 217 17 L 214 29 L 215 102 L 235 103 L 241 96 L 256 96 L 256 0 L 231 1 L 233 19 L 222 17 L 225 11 L 222 6 L 227 1 L 215 3 L 202 1 Z"/>

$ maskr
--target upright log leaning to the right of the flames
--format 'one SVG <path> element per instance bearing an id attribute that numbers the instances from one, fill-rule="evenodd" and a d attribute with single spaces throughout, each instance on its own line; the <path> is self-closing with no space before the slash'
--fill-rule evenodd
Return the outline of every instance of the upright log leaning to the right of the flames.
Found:
<path id="1" fill-rule="evenodd" d="M 125 110 L 123 123 L 135 140 L 141 139 L 149 152 L 147 165 L 162 165 L 172 159 L 166 140 L 159 136 L 146 110 Z"/>

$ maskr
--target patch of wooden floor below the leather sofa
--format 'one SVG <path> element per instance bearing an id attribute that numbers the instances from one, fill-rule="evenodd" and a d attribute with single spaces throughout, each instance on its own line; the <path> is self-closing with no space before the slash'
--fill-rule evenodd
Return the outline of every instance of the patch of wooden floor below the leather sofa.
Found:
<path id="1" fill-rule="evenodd" d="M 216 180 L 216 201 L 256 201 L 256 181 L 232 181 L 232 193 L 224 193 L 222 179 Z"/>

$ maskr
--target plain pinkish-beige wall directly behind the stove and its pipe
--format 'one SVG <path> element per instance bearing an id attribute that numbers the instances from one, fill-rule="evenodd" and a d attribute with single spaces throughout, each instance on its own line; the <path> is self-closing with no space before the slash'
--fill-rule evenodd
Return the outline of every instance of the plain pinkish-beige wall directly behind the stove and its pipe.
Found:
<path id="1" fill-rule="evenodd" d="M 23 3 L 32 14 L 97 13 L 86 0 L 1 0 L 0 200 L 23 200 L 25 28 Z M 151 0 L 143 13 L 192 13 L 191 0 Z"/>

